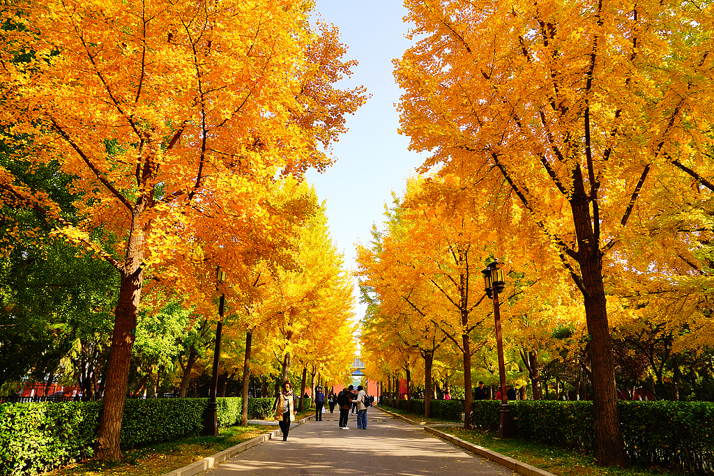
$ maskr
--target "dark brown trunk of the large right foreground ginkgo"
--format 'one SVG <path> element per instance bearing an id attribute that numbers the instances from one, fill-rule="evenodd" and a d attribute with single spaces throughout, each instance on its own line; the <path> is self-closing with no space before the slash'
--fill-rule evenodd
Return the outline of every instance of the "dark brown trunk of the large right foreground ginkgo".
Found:
<path id="1" fill-rule="evenodd" d="M 575 234 L 578 238 L 577 256 L 583 277 L 585 319 L 590 335 L 595 458 L 603 466 L 625 467 L 630 462 L 620 430 L 615 364 L 605 305 L 602 253 L 599 248 L 599 236 L 595 236 L 593 231 L 590 198 L 585 193 L 580 166 L 573 169 L 573 196 L 570 198 L 570 206 L 573 211 Z"/>

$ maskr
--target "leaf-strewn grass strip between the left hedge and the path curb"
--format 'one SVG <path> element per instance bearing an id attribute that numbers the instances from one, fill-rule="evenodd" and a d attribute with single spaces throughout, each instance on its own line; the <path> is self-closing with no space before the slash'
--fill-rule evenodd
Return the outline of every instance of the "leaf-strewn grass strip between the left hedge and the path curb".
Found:
<path id="1" fill-rule="evenodd" d="M 296 421 L 314 412 L 298 412 Z M 217 452 L 252 440 L 263 433 L 276 430 L 277 426 L 248 425 L 221 428 L 218 436 L 191 436 L 181 440 L 156 443 L 124 450 L 122 462 L 88 461 L 61 467 L 44 476 L 159 476 L 167 472 L 215 455 Z"/>

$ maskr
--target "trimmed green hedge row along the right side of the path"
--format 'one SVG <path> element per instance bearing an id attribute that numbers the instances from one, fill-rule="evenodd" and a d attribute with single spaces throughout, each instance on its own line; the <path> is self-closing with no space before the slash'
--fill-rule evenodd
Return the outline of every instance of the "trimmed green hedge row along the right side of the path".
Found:
<path id="1" fill-rule="evenodd" d="M 473 402 L 472 421 L 484 430 L 498 430 L 501 402 Z M 714 403 L 619 402 L 630 460 L 671 470 L 709 474 L 714 471 Z M 511 402 L 519 438 L 592 451 L 593 402 L 525 400 Z"/>

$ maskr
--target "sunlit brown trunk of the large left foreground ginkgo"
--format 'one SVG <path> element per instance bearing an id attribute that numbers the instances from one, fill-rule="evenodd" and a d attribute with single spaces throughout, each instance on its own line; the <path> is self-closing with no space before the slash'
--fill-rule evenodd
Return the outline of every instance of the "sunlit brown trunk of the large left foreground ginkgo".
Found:
<path id="1" fill-rule="evenodd" d="M 141 201 L 141 198 L 139 198 Z M 111 340 L 109 367 L 106 372 L 106 392 L 101 413 L 94 457 L 101 461 L 120 461 L 121 418 L 124 415 L 126 390 L 129 385 L 131 348 L 136 334 L 141 285 L 144 233 L 139 228 L 140 211 L 134 211 L 124 269 L 121 270 L 119 301 L 114 311 L 114 334 Z"/>

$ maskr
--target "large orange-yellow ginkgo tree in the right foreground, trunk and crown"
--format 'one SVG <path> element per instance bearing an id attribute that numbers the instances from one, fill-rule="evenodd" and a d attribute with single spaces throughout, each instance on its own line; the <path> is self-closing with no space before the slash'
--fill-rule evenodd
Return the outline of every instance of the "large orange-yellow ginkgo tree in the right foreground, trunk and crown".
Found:
<path id="1" fill-rule="evenodd" d="M 627 465 L 603 276 L 623 239 L 661 211 L 651 204 L 671 209 L 713 190 L 703 106 L 714 91 L 712 11 L 658 1 L 406 6 L 417 41 L 396 61 L 401 131 L 413 150 L 433 152 L 424 168 L 500 176 L 550 240 L 583 295 L 595 457 Z"/>

